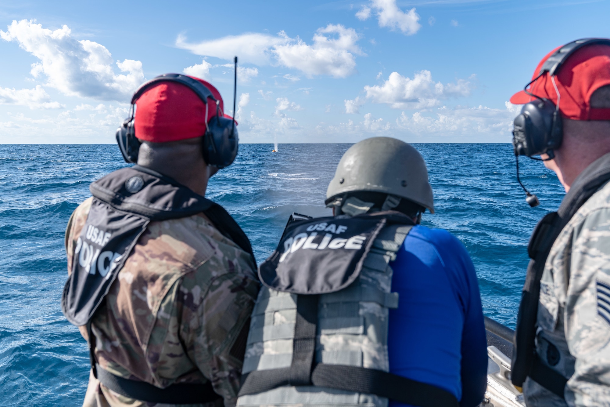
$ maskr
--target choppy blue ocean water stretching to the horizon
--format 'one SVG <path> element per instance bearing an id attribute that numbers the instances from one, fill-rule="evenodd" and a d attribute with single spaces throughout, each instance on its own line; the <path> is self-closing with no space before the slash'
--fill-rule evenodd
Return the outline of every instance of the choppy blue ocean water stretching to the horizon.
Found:
<path id="1" fill-rule="evenodd" d="M 275 248 L 293 211 L 329 215 L 326 186 L 349 144 L 245 144 L 210 180 L 206 196 L 250 237 L 257 260 Z M 510 144 L 415 144 L 429 169 L 436 214 L 472 256 L 487 316 L 514 326 L 538 219 L 564 195 L 552 171 Z M 0 406 L 80 406 L 88 379 L 85 341 L 60 310 L 66 222 L 88 185 L 124 166 L 116 145 L 0 145 Z"/>

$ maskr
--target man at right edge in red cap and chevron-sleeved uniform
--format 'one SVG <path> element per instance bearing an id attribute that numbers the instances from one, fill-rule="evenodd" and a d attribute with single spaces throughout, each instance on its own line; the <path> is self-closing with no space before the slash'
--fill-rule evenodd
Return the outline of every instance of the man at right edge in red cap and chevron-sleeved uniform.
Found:
<path id="1" fill-rule="evenodd" d="M 567 194 L 528 246 L 512 383 L 528 406 L 610 406 L 610 40 L 556 48 L 528 86 L 511 98 L 515 155 Z"/>

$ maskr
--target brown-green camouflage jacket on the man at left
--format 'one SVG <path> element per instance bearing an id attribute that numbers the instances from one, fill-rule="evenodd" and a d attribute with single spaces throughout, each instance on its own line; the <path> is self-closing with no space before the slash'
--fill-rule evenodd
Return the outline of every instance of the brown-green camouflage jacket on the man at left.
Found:
<path id="1" fill-rule="evenodd" d="M 68 273 L 91 200 L 68 222 Z M 203 214 L 151 222 L 92 319 L 99 365 L 157 387 L 210 380 L 224 405 L 235 405 L 259 291 L 254 270 L 249 254 Z M 118 395 L 90 375 L 84 406 L 145 405 L 155 404 Z"/>

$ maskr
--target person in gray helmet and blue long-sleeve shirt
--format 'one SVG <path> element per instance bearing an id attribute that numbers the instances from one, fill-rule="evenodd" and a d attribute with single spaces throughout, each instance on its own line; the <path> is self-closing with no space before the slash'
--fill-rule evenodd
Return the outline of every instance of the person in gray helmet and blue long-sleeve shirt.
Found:
<path id="1" fill-rule="evenodd" d="M 422 156 L 392 138 L 343 155 L 332 217 L 293 214 L 260 265 L 237 405 L 470 406 L 486 389 L 475 270 L 434 213 Z"/>

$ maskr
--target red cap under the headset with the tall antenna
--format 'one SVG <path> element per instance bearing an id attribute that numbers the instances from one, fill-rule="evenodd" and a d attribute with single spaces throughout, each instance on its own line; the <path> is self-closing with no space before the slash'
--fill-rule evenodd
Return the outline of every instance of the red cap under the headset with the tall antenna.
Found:
<path id="1" fill-rule="evenodd" d="M 203 79 L 201 82 L 220 101 L 224 112 L 223 98 L 218 89 Z M 152 142 L 179 141 L 201 137 L 206 133 L 206 123 L 216 116 L 216 103 L 208 100 L 206 105 L 190 87 L 177 82 L 159 82 L 146 90 L 135 101 L 135 136 Z M 232 119 L 231 116 L 223 114 Z"/>

